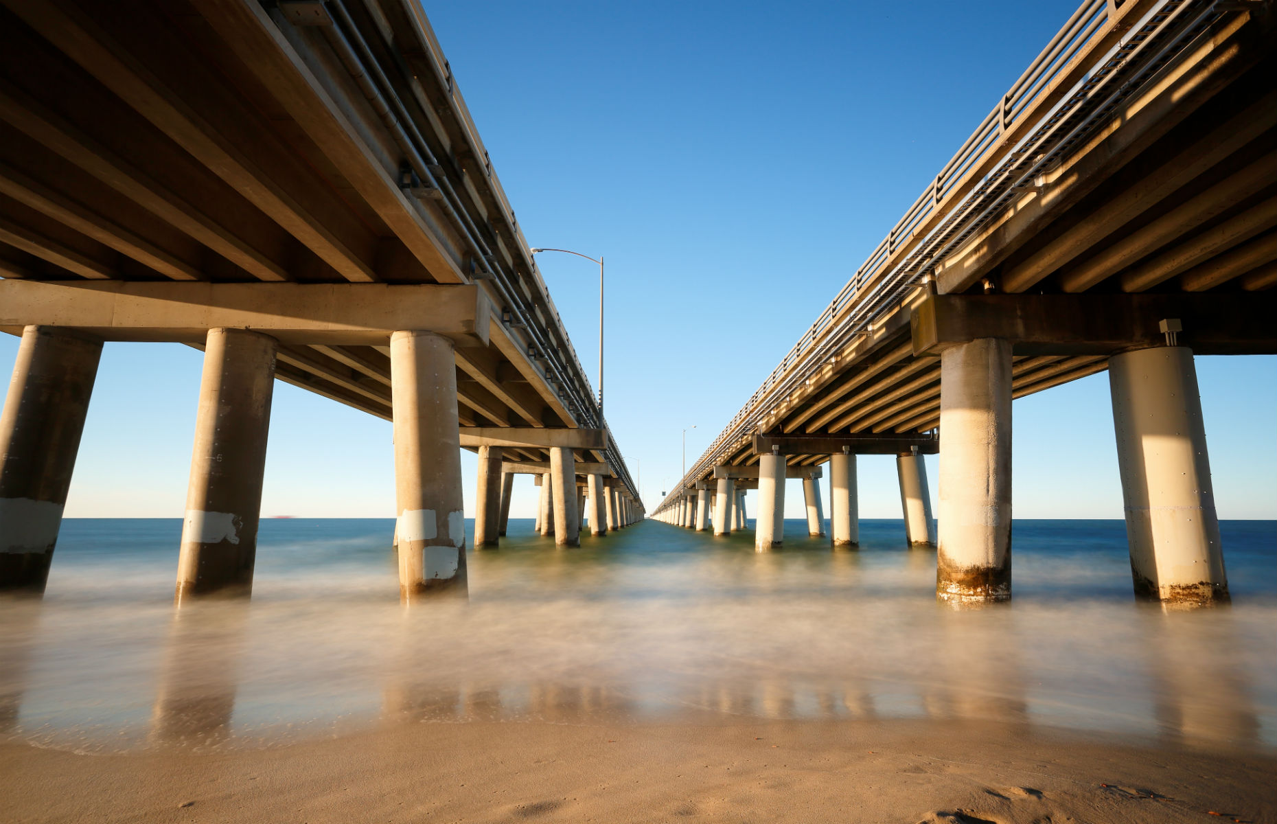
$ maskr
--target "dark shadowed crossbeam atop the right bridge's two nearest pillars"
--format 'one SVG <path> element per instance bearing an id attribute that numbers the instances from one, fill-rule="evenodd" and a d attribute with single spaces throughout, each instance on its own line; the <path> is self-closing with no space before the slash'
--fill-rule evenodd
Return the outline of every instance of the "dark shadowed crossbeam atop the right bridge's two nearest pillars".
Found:
<path id="1" fill-rule="evenodd" d="M 978 339 L 1015 355 L 1110 355 L 1163 346 L 1158 323 L 1177 318 L 1179 345 L 1200 355 L 1277 354 L 1274 294 L 932 295 L 911 318 L 913 354 L 939 355 Z"/>

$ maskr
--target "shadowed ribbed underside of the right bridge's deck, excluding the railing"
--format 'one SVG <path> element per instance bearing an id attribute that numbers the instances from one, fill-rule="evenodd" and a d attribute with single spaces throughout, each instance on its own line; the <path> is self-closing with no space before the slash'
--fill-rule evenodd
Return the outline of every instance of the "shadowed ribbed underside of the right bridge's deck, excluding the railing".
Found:
<path id="1" fill-rule="evenodd" d="M 1073 332 L 1080 324 L 1083 335 L 1092 331 L 1087 309 L 1071 295 L 1115 304 L 1124 295 L 1167 295 L 1176 308 L 1166 310 L 1175 314 L 1162 317 L 1185 316 L 1179 341 L 1198 354 L 1277 353 L 1274 46 L 1268 20 L 1221 27 L 1195 60 L 1130 101 L 1037 190 L 1023 192 L 937 263 L 931 291 L 1005 298 L 1009 313 L 1016 312 L 1014 295 L 1042 295 L 1038 321 L 1071 316 L 1079 319 Z M 1055 304 L 1052 295 L 1060 296 Z M 782 400 L 759 431 L 865 436 L 936 428 L 939 349 L 919 351 L 925 345 L 911 330 L 926 299 L 919 284 Z M 1213 328 L 1194 327 L 1190 313 Z M 1087 346 L 1064 331 L 1052 340 L 1051 326 L 1037 323 L 1037 339 L 1015 345 L 1014 397 L 1102 372 L 1108 355 L 1161 337 L 1157 318 L 1124 339 L 1110 335 Z M 825 460 L 789 457 L 799 465 Z M 750 436 L 715 459 L 757 461 Z"/>

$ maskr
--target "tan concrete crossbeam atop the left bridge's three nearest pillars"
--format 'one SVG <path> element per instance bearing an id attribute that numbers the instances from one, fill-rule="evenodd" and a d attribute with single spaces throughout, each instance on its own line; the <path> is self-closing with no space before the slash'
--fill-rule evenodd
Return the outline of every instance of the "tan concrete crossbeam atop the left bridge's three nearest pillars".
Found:
<path id="1" fill-rule="evenodd" d="M 107 341 L 203 344 L 246 328 L 282 344 L 387 346 L 397 330 L 488 345 L 492 303 L 478 286 L 0 281 L 0 330 L 70 327 Z"/>

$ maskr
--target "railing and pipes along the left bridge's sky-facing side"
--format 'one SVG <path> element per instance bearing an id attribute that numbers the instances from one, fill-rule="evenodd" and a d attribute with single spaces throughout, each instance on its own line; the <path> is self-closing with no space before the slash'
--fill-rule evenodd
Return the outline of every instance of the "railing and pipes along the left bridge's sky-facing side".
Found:
<path id="1" fill-rule="evenodd" d="M 515 212 L 492 167 L 488 151 L 479 137 L 479 130 L 470 116 L 465 100 L 457 89 L 456 80 L 452 78 L 451 66 L 444 59 L 443 51 L 434 37 L 434 31 L 430 28 L 424 13 L 416 3 L 404 0 L 404 8 L 414 22 L 415 38 L 419 45 L 424 46 L 421 55 L 428 59 L 428 63 L 433 68 L 435 82 L 444 91 L 452 107 L 453 119 L 467 143 L 466 149 L 472 157 L 481 158 L 484 181 L 487 183 L 490 198 L 498 207 L 499 215 L 497 217 L 501 221 L 493 221 L 493 216 L 489 216 L 484 221 L 471 215 L 466 208 L 465 201 L 460 197 L 460 193 L 448 180 L 447 175 L 443 174 L 443 167 L 438 164 L 419 124 L 410 115 L 404 101 L 400 100 L 395 91 L 393 84 L 382 72 L 375 55 L 369 49 L 345 3 L 346 0 L 327 0 L 326 8 L 332 13 L 333 24 L 326 28 L 326 40 L 337 52 L 347 72 L 360 87 L 360 91 L 369 98 L 373 109 L 389 130 L 391 137 L 404 152 L 405 162 L 423 185 L 438 192 L 437 202 L 470 249 L 471 266 L 474 267 L 470 276 L 474 280 L 484 281 L 484 285 L 495 293 L 495 296 L 499 298 L 502 316 L 503 318 L 508 318 L 507 324 L 526 332 L 531 340 L 530 356 L 541 368 L 547 382 L 552 387 L 558 387 L 559 400 L 572 413 L 577 424 L 607 431 L 609 447 L 603 450 L 605 460 L 622 483 L 633 493 L 635 500 L 638 501 L 637 487 L 630 477 L 628 468 L 621 459 L 619 452 L 612 446 L 614 445 L 612 431 L 599 414 L 598 406 L 595 406 L 594 388 L 577 358 L 576 349 L 572 346 L 558 309 L 549 295 L 549 289 L 547 289 L 545 281 L 536 268 L 531 249 L 524 238 L 522 230 L 518 227 Z M 480 229 L 483 222 L 487 222 L 489 230 L 487 234 L 492 235 L 490 240 Z M 501 225 L 502 222 L 503 226 Z M 530 278 L 535 286 L 531 301 L 525 300 L 520 294 L 521 290 L 517 285 L 520 280 L 518 267 L 504 263 L 498 253 L 497 244 L 501 243 L 501 234 L 507 235 L 510 239 L 507 245 L 513 247 L 511 253 L 517 258 L 517 262 L 522 263 L 525 277 Z M 538 304 L 541 309 L 540 313 L 536 312 Z M 544 326 L 539 322 L 539 314 L 545 318 Z M 511 332 L 513 333 L 513 330 Z M 641 501 L 638 501 L 638 505 L 641 508 Z"/>

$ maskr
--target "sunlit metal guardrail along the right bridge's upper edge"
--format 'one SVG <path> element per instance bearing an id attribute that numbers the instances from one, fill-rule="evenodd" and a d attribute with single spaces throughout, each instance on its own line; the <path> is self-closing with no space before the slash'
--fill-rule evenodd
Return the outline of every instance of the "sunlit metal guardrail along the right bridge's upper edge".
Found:
<path id="1" fill-rule="evenodd" d="M 775 402 L 807 381 L 888 308 L 916 289 L 935 261 L 1057 166 L 1125 100 L 1148 86 L 1223 14 L 1216 0 L 1157 0 L 1107 49 L 1139 0 L 1085 0 L 945 164 L 762 386 L 692 464 L 677 488 L 704 474 Z M 1227 8 L 1236 8 L 1228 4 Z M 1125 10 L 1125 11 L 1124 11 Z M 1064 80 L 1080 74 L 1068 87 Z M 663 508 L 667 498 L 656 508 Z"/>

